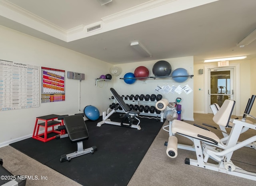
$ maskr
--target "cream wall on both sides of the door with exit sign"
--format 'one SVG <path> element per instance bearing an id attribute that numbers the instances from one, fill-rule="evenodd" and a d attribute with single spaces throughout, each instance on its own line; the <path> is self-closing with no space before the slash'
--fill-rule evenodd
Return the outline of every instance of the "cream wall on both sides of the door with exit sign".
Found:
<path id="1" fill-rule="evenodd" d="M 255 60 L 254 60 L 255 63 Z M 246 107 L 248 98 L 250 98 L 253 94 L 251 92 L 251 88 L 253 87 L 253 77 L 251 77 L 251 73 L 255 74 L 255 70 L 252 70 L 252 64 L 254 64 L 250 60 L 243 60 L 243 61 L 234 61 L 229 62 L 230 65 L 232 64 L 240 64 L 240 116 L 244 113 L 244 109 Z M 204 69 L 205 65 L 217 65 L 216 63 L 207 63 L 207 64 L 195 64 L 194 65 L 194 112 L 196 113 L 204 113 L 204 105 L 205 105 L 205 97 L 204 97 L 204 74 L 198 74 L 199 69 Z M 251 70 L 250 70 L 251 69 Z M 255 69 L 255 68 L 254 68 Z M 204 72 L 207 73 L 207 72 Z M 254 77 L 255 79 L 255 77 Z M 198 88 L 203 88 L 203 91 L 199 91 Z M 206 87 L 207 89 L 207 87 Z M 256 94 L 256 93 L 254 93 Z M 255 107 L 255 106 L 254 106 Z"/>

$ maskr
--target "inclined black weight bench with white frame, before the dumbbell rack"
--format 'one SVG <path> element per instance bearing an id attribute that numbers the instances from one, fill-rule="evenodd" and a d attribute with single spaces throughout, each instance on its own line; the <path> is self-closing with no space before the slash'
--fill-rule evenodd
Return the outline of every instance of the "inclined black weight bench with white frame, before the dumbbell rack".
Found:
<path id="1" fill-rule="evenodd" d="M 140 120 L 136 117 L 140 114 L 140 112 L 137 110 L 130 110 L 130 108 L 126 105 L 124 100 L 120 97 L 120 95 L 118 95 L 118 93 L 116 92 L 116 90 L 114 90 L 114 88 L 110 88 L 110 91 L 113 94 L 113 96 L 116 98 L 116 100 L 118 101 L 122 109 L 124 110 L 124 113 L 125 113 L 124 119 L 122 120 L 122 122 L 113 122 L 110 119 L 108 119 L 114 112 L 116 112 L 116 110 L 118 110 L 119 106 L 115 106 L 115 108 L 107 116 L 106 116 L 106 112 L 103 112 L 102 121 L 98 122 L 97 126 L 102 126 L 103 124 L 111 124 L 111 125 L 118 125 L 118 126 L 130 127 L 130 128 L 137 128 L 138 130 L 140 130 L 141 129 L 139 126 Z M 128 123 L 124 123 L 126 119 L 128 119 Z M 133 124 L 135 119 L 138 120 L 137 125 Z"/>

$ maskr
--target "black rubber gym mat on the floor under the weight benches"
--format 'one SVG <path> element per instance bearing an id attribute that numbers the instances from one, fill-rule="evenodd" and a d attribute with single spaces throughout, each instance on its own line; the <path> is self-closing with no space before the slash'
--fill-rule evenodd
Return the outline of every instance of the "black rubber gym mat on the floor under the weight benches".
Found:
<path id="1" fill-rule="evenodd" d="M 120 121 L 119 114 L 111 120 Z M 85 154 L 60 162 L 60 155 L 76 151 L 69 138 L 40 142 L 32 138 L 10 144 L 28 156 L 84 186 L 126 186 L 162 127 L 156 119 L 140 118 L 141 130 L 86 121 L 89 139 L 84 148 L 97 146 L 94 154 Z"/>

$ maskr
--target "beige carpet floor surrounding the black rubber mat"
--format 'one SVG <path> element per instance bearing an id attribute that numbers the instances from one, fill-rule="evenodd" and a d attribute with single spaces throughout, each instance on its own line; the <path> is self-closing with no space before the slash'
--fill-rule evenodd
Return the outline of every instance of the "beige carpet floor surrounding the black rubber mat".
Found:
<path id="1" fill-rule="evenodd" d="M 194 114 L 194 122 L 190 124 L 214 124 L 212 114 Z M 255 122 L 255 120 L 254 120 Z M 168 122 L 164 124 L 167 125 Z M 214 130 L 213 130 L 214 131 Z M 220 132 L 215 131 L 217 135 Z M 245 135 L 245 136 L 244 136 Z M 256 131 L 248 131 L 241 137 L 256 135 Z M 256 182 L 236 176 L 198 168 L 184 164 L 185 158 L 196 158 L 194 152 L 178 149 L 177 158 L 169 158 L 166 155 L 164 142 L 168 140 L 169 134 L 160 130 L 128 186 L 255 186 Z M 179 141 L 190 143 L 183 137 Z M 256 172 L 256 150 L 243 147 L 234 152 L 232 161 L 237 166 Z M 0 158 L 4 160 L 4 167 L 14 175 L 28 175 L 47 177 L 47 180 L 27 180 L 26 186 L 79 186 L 80 184 L 70 180 L 66 176 L 48 168 L 36 160 L 26 156 L 18 150 L 6 146 L 0 148 Z M 242 163 L 246 162 L 246 163 Z M 114 177 L 114 175 L 113 175 Z M 100 178 L 99 178 L 100 179 Z"/>

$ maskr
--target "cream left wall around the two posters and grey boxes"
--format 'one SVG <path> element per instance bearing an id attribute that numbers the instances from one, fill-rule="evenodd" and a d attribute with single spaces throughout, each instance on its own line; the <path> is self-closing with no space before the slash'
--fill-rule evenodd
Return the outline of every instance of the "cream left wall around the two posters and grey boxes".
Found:
<path id="1" fill-rule="evenodd" d="M 111 64 L 89 56 L 39 40 L 21 32 L 0 26 L 1 60 L 20 62 L 65 70 L 66 100 L 40 104 L 37 108 L 0 111 L 0 146 L 10 141 L 31 137 L 36 117 L 48 114 L 78 113 L 79 80 L 67 78 L 67 71 L 85 74 L 81 81 L 81 111 L 87 105 L 94 105 L 100 113 L 105 111 L 111 96 L 109 88 L 113 82 L 100 88 L 95 86 L 95 78 L 110 73 Z M 102 82 L 100 82 L 102 85 Z"/>

